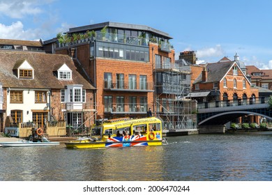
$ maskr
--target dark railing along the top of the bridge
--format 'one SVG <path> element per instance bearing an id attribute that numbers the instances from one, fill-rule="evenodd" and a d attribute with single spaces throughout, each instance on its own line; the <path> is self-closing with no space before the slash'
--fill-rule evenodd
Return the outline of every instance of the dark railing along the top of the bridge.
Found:
<path id="1" fill-rule="evenodd" d="M 259 98 L 247 98 L 247 99 L 237 99 L 237 100 L 222 100 L 214 102 L 199 102 L 197 103 L 197 109 L 209 109 L 216 107 L 236 107 L 248 104 L 266 104 L 269 98 L 259 97 Z"/>

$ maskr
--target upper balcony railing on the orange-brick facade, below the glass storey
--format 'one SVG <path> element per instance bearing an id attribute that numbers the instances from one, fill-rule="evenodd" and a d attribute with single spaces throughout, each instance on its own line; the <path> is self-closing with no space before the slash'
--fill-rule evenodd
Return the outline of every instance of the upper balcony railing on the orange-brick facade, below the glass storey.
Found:
<path id="1" fill-rule="evenodd" d="M 152 92 L 152 82 L 136 82 L 136 81 L 104 81 L 104 89 L 109 91 L 137 91 L 137 92 Z"/>

